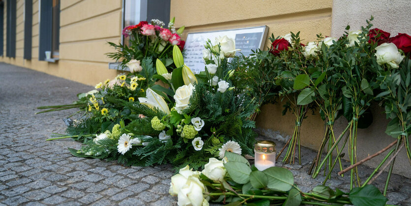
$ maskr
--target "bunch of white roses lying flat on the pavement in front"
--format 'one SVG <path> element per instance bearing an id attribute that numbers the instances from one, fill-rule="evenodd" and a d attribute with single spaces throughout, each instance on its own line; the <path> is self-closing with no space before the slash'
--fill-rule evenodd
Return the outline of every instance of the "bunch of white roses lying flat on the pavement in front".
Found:
<path id="1" fill-rule="evenodd" d="M 354 205 L 384 206 L 388 201 L 373 185 L 348 193 L 318 185 L 309 193 L 294 184 L 293 174 L 279 167 L 258 171 L 242 156 L 226 152 L 222 160 L 210 158 L 204 170 L 189 166 L 171 177 L 169 193 L 179 206 L 208 206 L 209 202 L 241 205 Z"/>

